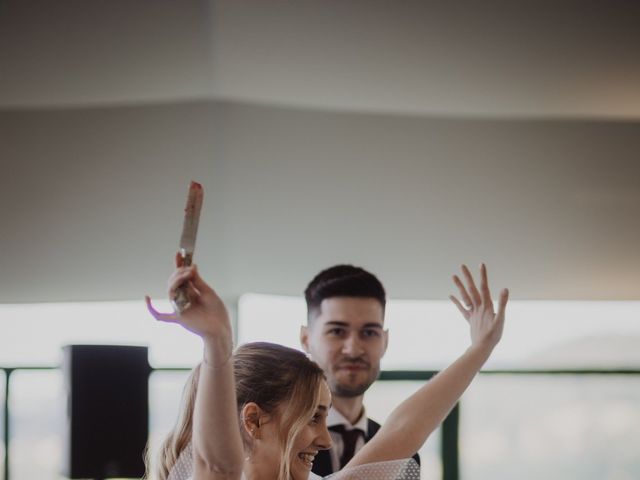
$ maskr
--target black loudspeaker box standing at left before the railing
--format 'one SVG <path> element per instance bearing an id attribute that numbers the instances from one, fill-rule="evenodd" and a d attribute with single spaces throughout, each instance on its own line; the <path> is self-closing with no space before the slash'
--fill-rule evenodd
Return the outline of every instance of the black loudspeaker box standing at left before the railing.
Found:
<path id="1" fill-rule="evenodd" d="M 140 478 L 149 436 L 147 347 L 64 347 L 67 431 L 63 475 Z"/>

